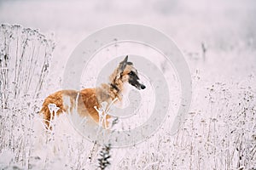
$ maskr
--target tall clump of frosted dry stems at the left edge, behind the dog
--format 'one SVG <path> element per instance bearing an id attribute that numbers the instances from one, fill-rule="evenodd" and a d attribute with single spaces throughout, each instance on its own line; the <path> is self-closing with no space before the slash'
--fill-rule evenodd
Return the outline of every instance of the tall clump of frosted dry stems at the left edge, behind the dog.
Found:
<path id="1" fill-rule="evenodd" d="M 32 120 L 54 48 L 38 30 L 0 26 L 0 153 L 11 151 L 21 167 L 31 168 Z"/>

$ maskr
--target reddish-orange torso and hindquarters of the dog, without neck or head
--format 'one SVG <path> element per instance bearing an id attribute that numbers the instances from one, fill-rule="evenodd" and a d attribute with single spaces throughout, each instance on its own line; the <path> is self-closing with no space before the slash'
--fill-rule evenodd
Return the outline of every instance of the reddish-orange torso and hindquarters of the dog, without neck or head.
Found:
<path id="1" fill-rule="evenodd" d="M 55 113 L 51 113 L 49 105 L 55 105 L 57 110 Z M 46 99 L 42 109 L 40 111 L 44 116 L 44 122 L 47 128 L 50 128 L 50 121 L 54 119 L 54 116 L 59 116 L 61 113 L 66 112 L 72 114 L 79 113 L 79 116 L 90 116 L 95 122 L 99 121 L 98 112 L 94 108 L 99 108 L 100 105 L 96 99 L 95 88 L 85 88 L 81 91 L 76 90 L 61 90 L 50 94 Z M 108 118 L 109 116 L 107 116 Z"/>

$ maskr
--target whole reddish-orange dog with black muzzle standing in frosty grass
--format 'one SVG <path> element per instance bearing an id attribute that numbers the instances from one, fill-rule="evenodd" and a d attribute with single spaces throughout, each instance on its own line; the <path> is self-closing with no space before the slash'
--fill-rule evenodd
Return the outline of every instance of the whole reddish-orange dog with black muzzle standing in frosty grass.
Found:
<path id="1" fill-rule="evenodd" d="M 90 117 L 99 124 L 100 117 L 96 108 L 101 108 L 102 102 L 107 102 L 108 106 L 115 100 L 121 102 L 125 83 L 129 83 L 138 90 L 146 88 L 139 80 L 138 72 L 132 62 L 128 61 L 127 55 L 110 75 L 108 83 L 102 83 L 100 87 L 96 88 L 84 88 L 80 91 L 61 90 L 44 99 L 40 114 L 43 114 L 45 127 L 51 129 L 50 122 L 55 116 L 74 111 L 79 113 L 79 116 Z M 68 102 L 65 99 L 69 99 Z M 50 105 L 55 105 L 55 114 L 50 109 Z M 105 128 L 108 127 L 109 118 L 111 116 L 107 115 Z"/>

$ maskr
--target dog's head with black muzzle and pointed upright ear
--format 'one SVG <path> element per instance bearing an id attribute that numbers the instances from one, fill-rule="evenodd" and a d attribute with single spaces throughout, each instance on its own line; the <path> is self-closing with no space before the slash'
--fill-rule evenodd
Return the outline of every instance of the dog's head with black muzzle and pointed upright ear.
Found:
<path id="1" fill-rule="evenodd" d="M 122 82 L 128 82 L 131 86 L 134 86 L 139 90 L 146 88 L 145 85 L 139 82 L 140 79 L 138 77 L 137 70 L 133 64 L 128 61 L 128 55 L 119 63 L 118 77 Z"/>

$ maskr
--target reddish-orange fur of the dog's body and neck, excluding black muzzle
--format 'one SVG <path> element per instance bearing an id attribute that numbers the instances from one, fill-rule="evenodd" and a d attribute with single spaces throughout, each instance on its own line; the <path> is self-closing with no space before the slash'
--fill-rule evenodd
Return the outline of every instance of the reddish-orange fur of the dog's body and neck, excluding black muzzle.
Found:
<path id="1" fill-rule="evenodd" d="M 127 59 L 126 59 L 127 61 Z M 44 99 L 43 107 L 40 111 L 41 114 L 44 115 L 44 122 L 46 127 L 49 127 L 49 121 L 51 120 L 51 114 L 49 112 L 49 104 L 55 104 L 60 109 L 56 112 L 56 115 L 59 116 L 63 112 L 73 112 L 74 109 L 77 109 L 77 112 L 80 116 L 89 116 L 95 122 L 99 122 L 98 112 L 94 108 L 100 108 L 100 104 L 104 101 L 111 104 L 113 99 L 118 98 L 121 101 L 121 93 L 124 90 L 123 85 L 124 82 L 128 81 L 128 73 L 133 69 L 132 65 L 126 65 L 125 69 L 122 70 L 122 77 L 119 77 L 120 74 L 120 63 L 119 67 L 113 71 L 113 74 L 109 77 L 109 81 L 114 83 L 119 90 L 111 88 L 109 84 L 102 84 L 101 87 L 98 88 L 85 88 L 81 91 L 76 90 L 61 90 L 55 92 L 54 94 L 50 94 L 46 99 Z M 98 95 L 96 97 L 96 94 Z M 78 98 L 79 95 L 79 98 Z M 64 97 L 69 99 L 68 105 L 65 104 Z M 78 98 L 78 100 L 77 100 Z M 76 104 L 78 101 L 78 104 Z M 108 119 L 110 116 L 106 116 L 107 118 L 107 126 Z M 52 120 L 54 116 L 52 117 Z"/>

